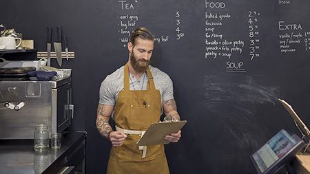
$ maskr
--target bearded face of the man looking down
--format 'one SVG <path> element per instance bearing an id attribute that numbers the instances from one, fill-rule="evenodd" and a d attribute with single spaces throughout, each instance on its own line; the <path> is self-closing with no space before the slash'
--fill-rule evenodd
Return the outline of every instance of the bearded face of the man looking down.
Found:
<path id="1" fill-rule="evenodd" d="M 153 53 L 154 42 L 147 39 L 136 39 L 136 45 L 128 44 L 130 64 L 136 72 L 145 72 Z"/>

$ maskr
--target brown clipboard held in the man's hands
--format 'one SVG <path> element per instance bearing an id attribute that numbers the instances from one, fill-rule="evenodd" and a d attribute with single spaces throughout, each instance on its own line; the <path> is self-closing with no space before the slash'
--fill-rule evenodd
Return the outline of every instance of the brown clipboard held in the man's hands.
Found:
<path id="1" fill-rule="evenodd" d="M 154 122 L 147 128 L 144 135 L 136 142 L 138 146 L 149 146 L 156 144 L 168 144 L 165 136 L 176 133 L 186 123 L 186 120 L 178 122 Z"/>

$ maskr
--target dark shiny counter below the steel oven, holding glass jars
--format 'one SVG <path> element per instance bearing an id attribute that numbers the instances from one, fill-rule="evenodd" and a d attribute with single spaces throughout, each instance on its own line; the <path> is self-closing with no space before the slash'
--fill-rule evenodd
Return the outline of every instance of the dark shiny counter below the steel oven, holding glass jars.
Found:
<path id="1" fill-rule="evenodd" d="M 35 152 L 31 141 L 0 141 L 0 173 L 58 173 L 65 166 L 85 173 L 85 138 L 82 132 L 63 133 L 61 149 L 45 153 Z"/>

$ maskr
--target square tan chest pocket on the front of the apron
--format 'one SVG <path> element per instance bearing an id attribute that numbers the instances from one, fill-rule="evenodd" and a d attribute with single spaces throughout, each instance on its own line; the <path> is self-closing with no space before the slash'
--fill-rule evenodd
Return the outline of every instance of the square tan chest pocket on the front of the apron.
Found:
<path id="1" fill-rule="evenodd" d="M 132 130 L 147 129 L 151 124 L 150 108 L 146 105 L 131 105 L 129 127 Z"/>

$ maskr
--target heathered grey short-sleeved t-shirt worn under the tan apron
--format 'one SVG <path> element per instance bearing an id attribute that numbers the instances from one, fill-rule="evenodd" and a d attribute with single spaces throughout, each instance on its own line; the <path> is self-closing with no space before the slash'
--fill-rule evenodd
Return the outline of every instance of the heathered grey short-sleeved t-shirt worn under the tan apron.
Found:
<path id="1" fill-rule="evenodd" d="M 155 89 L 161 92 L 162 105 L 164 100 L 174 98 L 173 83 L 165 72 L 162 72 L 156 67 L 149 65 L 154 78 Z M 136 77 L 130 74 L 130 90 L 146 90 L 149 79 L 146 72 L 137 80 Z M 119 91 L 124 89 L 124 66 L 116 69 L 115 72 L 108 75 L 101 83 L 99 91 L 99 103 L 103 105 L 115 105 Z"/>

